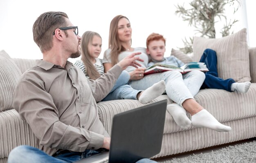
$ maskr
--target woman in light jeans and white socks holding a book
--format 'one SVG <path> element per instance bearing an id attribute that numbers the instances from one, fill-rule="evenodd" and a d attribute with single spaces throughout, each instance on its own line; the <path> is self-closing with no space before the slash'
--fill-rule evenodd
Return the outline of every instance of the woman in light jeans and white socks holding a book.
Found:
<path id="1" fill-rule="evenodd" d="M 121 59 L 134 52 L 141 52 L 139 57 L 144 62 L 139 62 L 141 68 L 128 67 L 126 70 L 130 74 L 130 85 L 134 89 L 146 89 L 154 83 L 164 80 L 166 83 L 166 94 L 171 100 L 177 104 L 170 104 L 167 106 L 168 112 L 172 115 L 175 122 L 182 128 L 187 129 L 191 124 L 195 127 L 207 127 L 219 132 L 227 132 L 231 127 L 220 124 L 207 110 L 205 110 L 198 102 L 195 101 L 189 90 L 189 85 L 193 84 L 193 89 L 200 89 L 203 81 L 203 73 L 194 73 L 193 75 L 200 75 L 200 81 L 193 83 L 184 83 L 182 74 L 176 71 L 167 71 L 163 73 L 155 73 L 144 76 L 144 69 L 148 64 L 148 55 L 145 48 L 131 47 L 132 28 L 127 17 L 117 15 L 110 23 L 109 33 L 109 49 L 105 51 L 103 58 L 103 65 L 105 72 L 107 72 L 113 65 L 118 63 Z M 197 91 L 197 92 L 198 92 Z M 196 93 L 197 93 L 196 92 Z M 185 109 L 185 110 L 184 110 Z M 191 114 L 191 120 L 186 116 L 186 111 Z"/>

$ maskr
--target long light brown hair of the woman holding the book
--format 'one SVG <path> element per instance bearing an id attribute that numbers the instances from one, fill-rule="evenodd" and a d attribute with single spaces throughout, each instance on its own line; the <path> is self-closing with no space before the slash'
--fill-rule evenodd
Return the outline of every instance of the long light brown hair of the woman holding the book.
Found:
<path id="1" fill-rule="evenodd" d="M 128 20 L 128 18 L 123 15 L 117 15 L 112 19 L 110 23 L 110 28 L 109 28 L 108 48 L 111 49 L 110 55 L 111 55 L 112 65 L 117 64 L 118 55 L 121 52 L 126 51 L 126 49 L 121 45 L 121 41 L 119 40 L 119 37 L 118 37 L 118 22 L 121 18 L 126 18 Z"/>

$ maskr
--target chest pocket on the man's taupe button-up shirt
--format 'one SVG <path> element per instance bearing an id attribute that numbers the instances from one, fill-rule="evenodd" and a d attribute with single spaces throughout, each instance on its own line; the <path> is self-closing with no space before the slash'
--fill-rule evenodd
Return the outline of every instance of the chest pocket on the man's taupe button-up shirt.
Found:
<path id="1" fill-rule="evenodd" d="M 88 84 L 88 81 L 81 80 L 79 81 L 81 96 L 82 96 L 82 102 L 85 104 L 92 104 L 94 101 L 94 97 L 92 96 L 92 90 L 90 89 L 90 86 Z"/>

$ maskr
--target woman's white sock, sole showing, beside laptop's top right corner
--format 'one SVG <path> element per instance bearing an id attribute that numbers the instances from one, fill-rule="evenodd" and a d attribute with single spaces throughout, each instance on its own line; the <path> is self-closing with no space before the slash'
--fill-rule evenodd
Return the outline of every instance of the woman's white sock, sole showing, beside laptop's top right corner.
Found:
<path id="1" fill-rule="evenodd" d="M 173 117 L 173 120 L 176 122 L 178 126 L 183 129 L 188 129 L 191 127 L 191 120 L 186 115 L 186 110 L 181 107 L 179 104 L 168 104 L 167 111 Z"/>

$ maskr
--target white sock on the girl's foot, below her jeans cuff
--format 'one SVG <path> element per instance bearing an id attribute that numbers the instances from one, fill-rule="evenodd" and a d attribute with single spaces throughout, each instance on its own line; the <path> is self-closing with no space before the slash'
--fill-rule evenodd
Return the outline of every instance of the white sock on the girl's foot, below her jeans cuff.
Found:
<path id="1" fill-rule="evenodd" d="M 158 83 L 155 83 L 145 91 L 141 93 L 139 96 L 139 102 L 145 104 L 158 96 L 162 95 L 165 91 L 165 82 L 164 80 L 159 81 Z"/>

